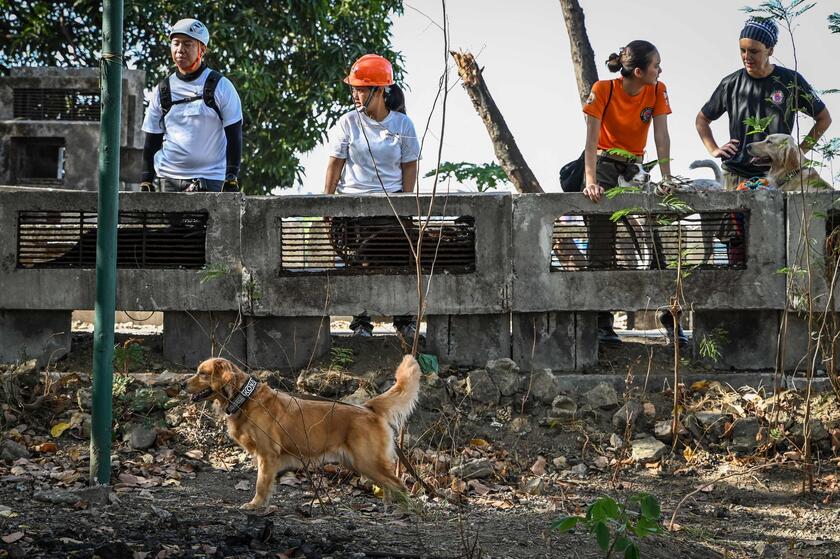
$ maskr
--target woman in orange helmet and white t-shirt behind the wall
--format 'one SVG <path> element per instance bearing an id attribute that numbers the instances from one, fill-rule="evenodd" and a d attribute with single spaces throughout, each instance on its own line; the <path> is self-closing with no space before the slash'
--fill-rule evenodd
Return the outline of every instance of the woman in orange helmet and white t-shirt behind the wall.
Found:
<path id="1" fill-rule="evenodd" d="M 377 54 L 366 54 L 353 63 L 344 83 L 350 86 L 355 110 L 342 115 L 330 133 L 324 192 L 413 192 L 420 142 L 405 114 L 405 96 L 394 83 L 391 63 Z M 368 223 L 371 219 L 379 221 Z M 382 218 L 356 221 L 367 229 L 382 225 Z M 394 327 L 409 343 L 417 328 L 412 316 L 395 316 Z M 350 328 L 354 335 L 363 337 L 373 332 L 366 312 L 355 316 Z"/>

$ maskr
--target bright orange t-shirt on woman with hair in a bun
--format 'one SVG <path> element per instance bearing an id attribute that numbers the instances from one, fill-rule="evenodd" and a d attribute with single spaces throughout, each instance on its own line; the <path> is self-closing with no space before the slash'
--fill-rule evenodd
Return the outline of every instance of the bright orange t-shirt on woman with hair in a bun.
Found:
<path id="1" fill-rule="evenodd" d="M 598 149 L 619 148 L 638 156 L 645 153 L 647 133 L 653 117 L 671 114 L 668 103 L 668 89 L 665 84 L 646 85 L 630 96 L 622 86 L 624 78 L 613 81 L 613 93 L 607 113 L 604 106 L 610 96 L 610 80 L 600 80 L 592 86 L 592 92 L 583 105 L 583 112 L 601 119 L 601 136 Z"/>

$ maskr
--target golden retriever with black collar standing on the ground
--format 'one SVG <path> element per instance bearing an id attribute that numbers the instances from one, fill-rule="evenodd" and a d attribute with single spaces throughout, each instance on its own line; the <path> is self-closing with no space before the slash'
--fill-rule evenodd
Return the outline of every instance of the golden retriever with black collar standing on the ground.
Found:
<path id="1" fill-rule="evenodd" d="M 405 490 L 394 475 L 394 432 L 420 390 L 420 367 L 410 355 L 397 368 L 396 384 L 362 405 L 296 398 L 220 358 L 204 361 L 185 384 L 192 401 L 211 400 L 224 410 L 228 434 L 256 461 L 256 494 L 243 509 L 268 503 L 278 472 L 325 462 L 347 465 L 383 489 Z"/>

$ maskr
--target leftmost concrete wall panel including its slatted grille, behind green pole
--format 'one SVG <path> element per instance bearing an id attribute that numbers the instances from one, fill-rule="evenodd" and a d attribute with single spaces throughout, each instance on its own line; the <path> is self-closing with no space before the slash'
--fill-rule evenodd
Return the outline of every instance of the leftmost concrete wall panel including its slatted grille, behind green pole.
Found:
<path id="1" fill-rule="evenodd" d="M 96 193 L 0 187 L 0 309 L 92 309 Z M 237 310 L 238 194 L 122 193 L 117 308 Z"/>

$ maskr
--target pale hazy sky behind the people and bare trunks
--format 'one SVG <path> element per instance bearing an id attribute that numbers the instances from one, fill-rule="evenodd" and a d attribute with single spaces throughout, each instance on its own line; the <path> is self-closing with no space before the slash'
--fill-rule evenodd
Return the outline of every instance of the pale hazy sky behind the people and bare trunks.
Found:
<path id="1" fill-rule="evenodd" d="M 787 3 L 789 0 L 785 0 Z M 671 133 L 672 172 L 691 178 L 712 178 L 709 169 L 689 170 L 697 159 L 707 159 L 694 128 L 700 107 L 721 78 L 741 68 L 738 36 L 748 17 L 741 8 L 756 6 L 747 0 L 581 0 L 589 40 L 595 51 L 600 79 L 616 77 L 603 62 L 611 52 L 634 39 L 657 46 L 662 57 L 660 80 L 668 87 L 673 113 Z M 818 90 L 840 89 L 836 57 L 840 35 L 828 30 L 827 17 L 840 11 L 838 0 L 818 0 L 793 29 L 798 69 Z M 507 121 L 522 154 L 547 192 L 559 192 L 560 167 L 577 158 L 585 140 L 584 120 L 571 62 L 563 12 L 557 0 L 449 0 L 447 2 L 450 49 L 472 52 L 484 79 Z M 423 134 L 432 113 L 438 82 L 449 67 L 451 87 L 446 126 L 441 133 L 441 108 L 431 114 L 420 162 L 420 175 L 435 168 L 440 139 L 442 161 L 485 163 L 495 161 L 490 137 L 466 92 L 455 84 L 457 71 L 444 55 L 441 3 L 407 0 L 405 13 L 394 16 L 394 48 L 403 55 L 406 106 L 418 134 Z M 834 57 L 834 58 L 832 58 Z M 787 31 L 780 28 L 774 63 L 794 67 L 793 48 Z M 343 76 L 336 76 L 341 79 Z M 827 136 L 840 136 L 840 94 L 825 95 L 834 124 Z M 349 108 L 349 107 L 348 107 Z M 803 124 L 803 134 L 810 128 Z M 719 144 L 728 136 L 726 117 L 712 130 Z M 655 158 L 653 131 L 649 134 L 648 159 Z M 284 194 L 320 193 L 328 159 L 325 145 L 303 155 L 306 176 L 302 185 Z M 655 175 L 654 178 L 658 173 Z M 421 179 L 420 190 L 431 188 L 432 179 Z M 456 190 L 456 185 L 451 186 Z M 470 185 L 461 187 L 470 189 Z"/>

